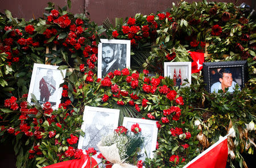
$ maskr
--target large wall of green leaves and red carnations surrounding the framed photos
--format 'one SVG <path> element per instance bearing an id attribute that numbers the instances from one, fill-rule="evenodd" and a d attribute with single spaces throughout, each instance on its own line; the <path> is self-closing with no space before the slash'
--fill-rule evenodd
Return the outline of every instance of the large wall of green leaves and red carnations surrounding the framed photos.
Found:
<path id="1" fill-rule="evenodd" d="M 146 159 L 146 167 L 183 167 L 232 127 L 236 137 L 229 140 L 229 165 L 246 167 L 244 156 L 255 150 L 255 24 L 243 9 L 232 3 L 180 2 L 167 12 L 137 14 L 117 27 L 104 25 L 105 38 L 134 39 L 138 70 L 142 65 L 148 70 L 116 70 L 98 79 L 97 43 L 103 26 L 84 14 L 69 13 L 67 6 L 56 10 L 53 3 L 48 5 L 45 18 L 29 22 L 13 18 L 8 10 L 0 16 L 0 89 L 1 99 L 6 99 L 0 136 L 1 142 L 14 142 L 17 167 L 79 158 L 85 105 L 118 108 L 121 116 L 158 121 L 155 158 Z M 188 49 L 203 52 L 208 43 L 205 61 L 247 59 L 250 80 L 245 89 L 232 95 L 209 94 L 201 75 L 192 74 L 190 87 L 178 90 L 172 79 L 162 77 L 164 61 L 189 61 Z M 51 49 L 55 45 L 57 51 Z M 49 103 L 41 107 L 26 102 L 32 63 L 44 63 L 45 56 L 60 69 L 70 68 L 57 110 Z M 151 72 L 159 74 L 149 76 Z"/>

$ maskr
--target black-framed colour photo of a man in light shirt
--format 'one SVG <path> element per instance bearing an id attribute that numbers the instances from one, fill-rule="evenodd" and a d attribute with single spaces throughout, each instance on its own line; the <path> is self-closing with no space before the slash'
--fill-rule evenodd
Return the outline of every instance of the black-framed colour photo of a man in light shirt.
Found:
<path id="1" fill-rule="evenodd" d="M 218 90 L 233 93 L 235 87 L 241 90 L 247 81 L 247 61 L 204 62 L 203 77 L 209 93 Z"/>

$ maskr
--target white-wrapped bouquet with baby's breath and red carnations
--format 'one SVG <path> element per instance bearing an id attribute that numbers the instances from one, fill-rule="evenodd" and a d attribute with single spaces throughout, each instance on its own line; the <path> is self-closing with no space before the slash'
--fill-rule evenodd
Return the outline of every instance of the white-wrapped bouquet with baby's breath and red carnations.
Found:
<path id="1" fill-rule="evenodd" d="M 127 166 L 127 163 L 132 165 L 137 163 L 142 165 L 142 161 L 137 162 L 137 154 L 141 150 L 140 148 L 143 148 L 143 137 L 139 132 L 141 132 L 141 128 L 138 124 L 133 124 L 131 131 L 119 126 L 114 133 L 101 139 L 98 148 L 104 158 L 113 164 Z"/>

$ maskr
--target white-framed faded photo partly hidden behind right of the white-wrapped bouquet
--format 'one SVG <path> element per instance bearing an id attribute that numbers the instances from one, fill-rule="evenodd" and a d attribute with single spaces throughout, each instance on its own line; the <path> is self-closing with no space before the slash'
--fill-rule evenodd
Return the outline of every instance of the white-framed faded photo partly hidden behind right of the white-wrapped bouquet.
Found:
<path id="1" fill-rule="evenodd" d="M 142 136 L 145 138 L 144 148 L 142 148 L 141 153 L 138 154 L 138 160 L 144 161 L 146 157 L 153 158 L 153 151 L 156 149 L 156 140 L 158 137 L 158 128 L 156 127 L 156 121 L 146 119 L 135 119 L 131 117 L 124 117 L 123 119 L 123 127 L 126 127 L 129 130 L 131 129 L 131 125 L 136 123 L 139 124 Z"/>

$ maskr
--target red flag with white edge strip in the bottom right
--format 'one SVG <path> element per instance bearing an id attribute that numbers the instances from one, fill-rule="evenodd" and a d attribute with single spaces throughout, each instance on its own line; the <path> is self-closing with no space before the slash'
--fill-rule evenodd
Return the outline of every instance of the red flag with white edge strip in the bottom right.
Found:
<path id="1" fill-rule="evenodd" d="M 183 168 L 225 168 L 228 159 L 227 137 L 210 146 Z"/>

